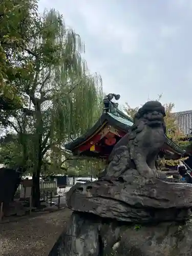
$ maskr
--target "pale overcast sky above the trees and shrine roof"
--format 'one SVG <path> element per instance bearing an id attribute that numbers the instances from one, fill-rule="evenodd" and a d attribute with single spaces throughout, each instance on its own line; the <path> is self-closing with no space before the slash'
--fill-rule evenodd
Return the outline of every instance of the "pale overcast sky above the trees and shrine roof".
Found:
<path id="1" fill-rule="evenodd" d="M 192 109 L 192 0 L 40 0 L 86 44 L 84 58 L 105 93 L 132 107 L 163 94 Z"/>

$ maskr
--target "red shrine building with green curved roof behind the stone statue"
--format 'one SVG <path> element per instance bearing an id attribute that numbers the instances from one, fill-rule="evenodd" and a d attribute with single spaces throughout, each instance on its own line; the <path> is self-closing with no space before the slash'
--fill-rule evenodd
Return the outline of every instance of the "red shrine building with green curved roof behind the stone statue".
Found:
<path id="1" fill-rule="evenodd" d="M 129 131 L 133 119 L 118 109 L 120 95 L 109 94 L 103 100 L 103 113 L 86 134 L 65 145 L 73 155 L 108 159 L 114 145 Z M 185 155 L 176 143 L 165 135 L 165 143 L 159 153 L 159 158 L 177 160 Z"/>

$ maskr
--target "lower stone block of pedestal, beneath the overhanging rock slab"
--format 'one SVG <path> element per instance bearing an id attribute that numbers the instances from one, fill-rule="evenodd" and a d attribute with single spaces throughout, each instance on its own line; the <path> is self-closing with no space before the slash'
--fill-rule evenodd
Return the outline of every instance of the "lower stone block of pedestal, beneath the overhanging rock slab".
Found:
<path id="1" fill-rule="evenodd" d="M 190 256 L 192 223 L 128 225 L 73 213 L 49 256 Z"/>

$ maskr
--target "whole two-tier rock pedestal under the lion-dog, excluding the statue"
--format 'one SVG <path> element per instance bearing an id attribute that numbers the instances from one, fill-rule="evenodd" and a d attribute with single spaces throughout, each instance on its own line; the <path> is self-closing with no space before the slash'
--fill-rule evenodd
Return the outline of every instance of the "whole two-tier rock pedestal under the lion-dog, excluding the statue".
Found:
<path id="1" fill-rule="evenodd" d="M 67 204 L 68 231 L 49 256 L 192 256 L 191 184 L 129 170 L 76 184 Z"/>

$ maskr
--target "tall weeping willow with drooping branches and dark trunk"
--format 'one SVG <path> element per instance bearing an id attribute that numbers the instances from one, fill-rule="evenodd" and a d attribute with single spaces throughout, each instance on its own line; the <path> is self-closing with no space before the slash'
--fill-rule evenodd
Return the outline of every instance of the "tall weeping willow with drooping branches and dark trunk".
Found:
<path id="1" fill-rule="evenodd" d="M 17 62 L 21 69 L 14 82 L 22 88 L 24 105 L 4 112 L 1 121 L 16 131 L 25 146 L 35 206 L 39 206 L 44 159 L 59 164 L 63 143 L 89 129 L 99 115 L 101 79 L 89 73 L 82 53 L 79 35 L 67 29 L 62 16 L 51 10 L 36 17 L 28 48 Z"/>

